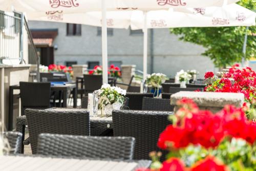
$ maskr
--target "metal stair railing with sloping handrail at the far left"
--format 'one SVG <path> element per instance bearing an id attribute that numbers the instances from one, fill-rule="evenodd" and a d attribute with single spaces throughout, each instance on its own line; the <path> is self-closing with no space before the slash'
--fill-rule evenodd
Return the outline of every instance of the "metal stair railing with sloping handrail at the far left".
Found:
<path id="1" fill-rule="evenodd" d="M 28 56 L 27 62 L 24 60 L 24 50 Z M 0 65 L 5 59 L 16 60 L 18 63 L 37 64 L 38 81 L 39 56 L 23 13 L 0 11 Z"/>

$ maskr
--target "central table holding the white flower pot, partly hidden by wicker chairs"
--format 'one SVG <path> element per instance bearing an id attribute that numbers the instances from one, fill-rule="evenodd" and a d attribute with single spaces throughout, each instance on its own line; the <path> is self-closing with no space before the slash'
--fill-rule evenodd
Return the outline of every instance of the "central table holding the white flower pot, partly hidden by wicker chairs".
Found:
<path id="1" fill-rule="evenodd" d="M 79 108 L 49 108 L 46 110 L 50 111 L 87 111 L 87 109 L 79 109 Z M 22 142 L 25 137 L 25 127 L 27 125 L 26 116 L 20 116 L 16 118 L 16 131 L 23 134 Z M 113 129 L 113 121 L 112 116 L 107 115 L 90 115 L 90 134 L 93 136 L 98 136 L 103 134 L 104 131 Z M 24 153 L 24 144 L 22 143 L 22 148 L 20 149 L 20 153 Z"/>

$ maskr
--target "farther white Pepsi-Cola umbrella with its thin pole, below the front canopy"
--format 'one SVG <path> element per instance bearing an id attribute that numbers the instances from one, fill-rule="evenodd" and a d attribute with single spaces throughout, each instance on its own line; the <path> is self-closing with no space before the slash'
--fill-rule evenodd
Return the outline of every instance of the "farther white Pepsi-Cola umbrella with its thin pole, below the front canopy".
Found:
<path id="1" fill-rule="evenodd" d="M 178 11 L 178 12 L 177 12 Z M 182 8 L 169 10 L 155 10 L 145 12 L 108 11 L 106 24 L 109 28 L 177 28 L 177 27 L 230 27 L 255 25 L 256 13 L 239 6 L 230 4 L 223 7 Z M 146 17 L 145 17 L 146 16 Z M 63 23 L 77 23 L 101 26 L 101 12 L 86 12 L 80 14 L 63 13 L 28 13 L 31 20 L 58 21 Z M 75 19 L 74 19 L 75 18 Z M 143 75 L 147 74 L 147 34 L 144 31 Z"/>

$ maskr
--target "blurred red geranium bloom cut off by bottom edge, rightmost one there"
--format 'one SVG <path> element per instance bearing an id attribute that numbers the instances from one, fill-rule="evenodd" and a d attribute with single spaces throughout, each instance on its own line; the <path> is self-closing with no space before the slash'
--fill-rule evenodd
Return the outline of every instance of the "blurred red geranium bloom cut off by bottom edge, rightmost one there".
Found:
<path id="1" fill-rule="evenodd" d="M 227 166 L 218 161 L 216 158 L 208 156 L 204 160 L 198 161 L 191 171 L 225 171 Z"/>

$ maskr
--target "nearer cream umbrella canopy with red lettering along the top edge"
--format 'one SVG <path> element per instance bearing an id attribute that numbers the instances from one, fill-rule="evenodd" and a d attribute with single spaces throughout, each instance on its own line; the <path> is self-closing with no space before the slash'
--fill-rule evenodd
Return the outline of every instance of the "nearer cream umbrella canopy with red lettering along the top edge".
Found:
<path id="1" fill-rule="evenodd" d="M 102 0 L 0 0 L 0 10 L 12 10 L 23 12 L 56 11 L 86 12 L 101 11 Z M 168 9 L 168 8 L 196 8 L 196 7 L 220 7 L 223 4 L 236 3 L 239 0 L 105 0 L 106 9 L 113 10 L 134 10 L 142 11 Z"/>

